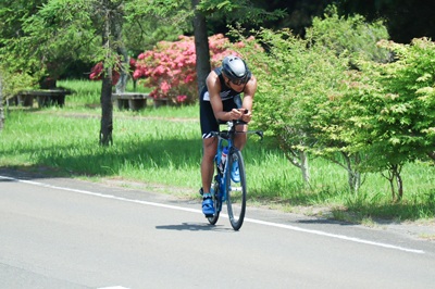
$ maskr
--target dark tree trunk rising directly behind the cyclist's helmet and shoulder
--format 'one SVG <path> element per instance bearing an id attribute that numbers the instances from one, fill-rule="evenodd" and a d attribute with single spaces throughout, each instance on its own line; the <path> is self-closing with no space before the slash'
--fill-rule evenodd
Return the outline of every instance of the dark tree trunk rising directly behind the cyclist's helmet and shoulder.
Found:
<path id="1" fill-rule="evenodd" d="M 191 7 L 195 10 L 194 16 L 194 34 L 195 34 L 195 51 L 197 54 L 197 76 L 198 91 L 201 92 L 206 85 L 206 78 L 211 71 L 210 66 L 210 48 L 207 35 L 206 16 L 196 9 L 200 0 L 191 0 Z"/>

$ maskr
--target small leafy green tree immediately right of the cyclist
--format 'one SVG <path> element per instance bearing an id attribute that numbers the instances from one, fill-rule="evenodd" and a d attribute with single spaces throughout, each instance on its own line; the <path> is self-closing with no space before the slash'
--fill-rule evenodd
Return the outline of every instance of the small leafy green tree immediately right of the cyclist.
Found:
<path id="1" fill-rule="evenodd" d="M 252 73 L 261 79 L 252 109 L 256 124 L 273 137 L 275 146 L 301 169 L 303 181 L 310 186 L 307 152 L 319 140 L 313 125 L 322 113 L 319 104 L 328 101 L 347 59 L 288 29 L 261 29 L 256 39 L 268 50 L 250 58 Z"/>

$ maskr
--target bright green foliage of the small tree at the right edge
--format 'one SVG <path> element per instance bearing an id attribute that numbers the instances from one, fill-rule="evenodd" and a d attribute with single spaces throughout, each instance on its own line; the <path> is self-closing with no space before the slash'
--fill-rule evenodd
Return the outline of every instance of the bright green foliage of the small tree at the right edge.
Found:
<path id="1" fill-rule="evenodd" d="M 358 86 L 363 90 L 351 96 L 358 114 L 352 122 L 361 128 L 356 143 L 388 150 L 387 163 L 421 159 L 435 151 L 435 45 L 425 38 L 378 45 L 394 51 L 397 61 L 362 62 L 370 78 L 361 78 Z M 384 167 L 380 160 L 376 166 Z"/>

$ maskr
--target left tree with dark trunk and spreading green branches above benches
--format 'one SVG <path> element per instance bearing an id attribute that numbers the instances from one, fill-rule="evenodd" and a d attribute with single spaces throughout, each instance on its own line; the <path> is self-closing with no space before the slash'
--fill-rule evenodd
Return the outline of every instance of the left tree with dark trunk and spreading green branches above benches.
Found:
<path id="1" fill-rule="evenodd" d="M 41 67 L 50 61 L 69 58 L 71 51 L 96 51 L 94 59 L 102 61 L 104 67 L 100 143 L 107 146 L 112 141 L 113 129 L 112 67 L 119 62 L 120 55 L 122 62 L 128 58 L 122 39 L 123 24 L 149 14 L 163 15 L 166 9 L 175 11 L 178 7 L 175 1 L 165 0 L 151 3 L 140 0 L 49 0 L 35 12 L 28 13 L 27 20 L 22 23 L 24 35 L 32 37 L 17 37 L 16 41 L 7 45 L 11 53 L 9 62 L 12 63 L 16 55 L 24 59 L 37 55 L 35 63 L 27 63 L 27 66 L 38 64 Z M 99 36 L 102 38 L 100 46 L 95 42 Z M 84 54 L 89 55 L 86 52 Z M 125 68 L 122 68 L 121 73 L 124 72 Z M 123 85 L 125 83 L 121 81 Z"/>

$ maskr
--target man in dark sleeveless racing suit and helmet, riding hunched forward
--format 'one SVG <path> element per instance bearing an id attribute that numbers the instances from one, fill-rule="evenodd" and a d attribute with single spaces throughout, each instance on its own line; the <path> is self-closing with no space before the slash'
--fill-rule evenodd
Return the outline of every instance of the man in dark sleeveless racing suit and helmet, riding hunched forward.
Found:
<path id="1" fill-rule="evenodd" d="M 215 213 L 210 187 L 214 173 L 214 156 L 217 150 L 217 141 L 210 133 L 217 131 L 217 120 L 225 122 L 241 120 L 246 124 L 238 125 L 236 130 L 247 131 L 247 123 L 250 122 L 252 116 L 252 100 L 256 91 L 257 78 L 251 74 L 245 61 L 236 55 L 226 56 L 222 61 L 222 66 L 212 71 L 206 79 L 206 86 L 199 96 L 203 142 L 201 193 L 203 194 L 202 213 L 206 216 Z M 240 93 L 244 93 L 243 100 Z M 245 113 L 245 110 L 248 110 L 248 113 Z M 234 146 L 241 150 L 246 141 L 246 134 L 236 135 Z M 233 180 L 237 178 L 237 173 L 232 172 Z"/>

